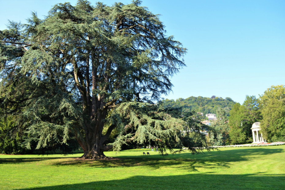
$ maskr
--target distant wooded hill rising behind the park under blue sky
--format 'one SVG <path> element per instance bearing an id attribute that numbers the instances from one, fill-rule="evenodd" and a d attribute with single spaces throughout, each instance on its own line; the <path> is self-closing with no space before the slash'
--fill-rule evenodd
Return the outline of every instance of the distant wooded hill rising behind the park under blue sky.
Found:
<path id="1" fill-rule="evenodd" d="M 216 113 L 218 108 L 232 108 L 232 106 L 236 103 L 231 98 L 226 97 L 223 99 L 222 97 L 212 96 L 208 97 L 188 97 L 186 99 L 178 98 L 175 100 L 162 100 L 161 101 L 164 107 L 173 107 L 179 108 L 182 107 L 184 111 L 195 111 L 202 112 L 204 116 L 207 113 Z"/>

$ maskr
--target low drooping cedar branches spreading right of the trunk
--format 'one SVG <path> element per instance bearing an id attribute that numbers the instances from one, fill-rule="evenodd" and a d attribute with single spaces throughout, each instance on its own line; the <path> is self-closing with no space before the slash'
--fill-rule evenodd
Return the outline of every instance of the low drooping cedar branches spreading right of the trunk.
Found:
<path id="1" fill-rule="evenodd" d="M 188 148 L 199 153 L 194 147 L 207 147 L 205 130 L 191 112 L 181 109 L 164 108 L 162 105 L 150 105 L 139 102 L 121 104 L 113 113 L 113 120 L 120 127 L 120 135 L 113 143 L 115 150 L 125 142 L 158 146 L 161 154 L 173 148 Z"/>

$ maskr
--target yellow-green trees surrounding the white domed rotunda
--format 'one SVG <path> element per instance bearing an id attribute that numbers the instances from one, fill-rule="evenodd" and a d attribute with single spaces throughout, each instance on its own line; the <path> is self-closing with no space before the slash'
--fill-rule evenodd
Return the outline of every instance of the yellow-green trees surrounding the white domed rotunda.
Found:
<path id="1" fill-rule="evenodd" d="M 246 96 L 242 105 L 236 103 L 229 112 L 229 142 L 231 144 L 252 143 L 251 127 L 255 122 L 260 122 L 261 132 L 267 142 L 284 142 L 284 98 L 284 85 L 276 85 L 265 90 L 259 98 Z"/>

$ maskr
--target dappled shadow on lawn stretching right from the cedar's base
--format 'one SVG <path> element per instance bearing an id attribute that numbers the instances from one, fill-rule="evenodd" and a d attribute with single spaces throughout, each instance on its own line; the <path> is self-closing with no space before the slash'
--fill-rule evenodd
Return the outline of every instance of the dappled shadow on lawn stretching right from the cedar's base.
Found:
<path id="1" fill-rule="evenodd" d="M 53 162 L 52 165 L 72 165 L 87 167 L 134 167 L 149 166 L 150 170 L 161 167 L 171 167 L 188 171 L 199 171 L 199 168 L 227 168 L 230 162 L 247 161 L 260 158 L 262 155 L 273 155 L 283 152 L 283 149 L 234 149 L 223 151 L 210 151 L 204 154 L 192 155 L 190 153 L 170 154 L 165 157 L 159 155 L 150 156 L 118 156 L 113 160 L 83 160 L 68 159 Z"/>

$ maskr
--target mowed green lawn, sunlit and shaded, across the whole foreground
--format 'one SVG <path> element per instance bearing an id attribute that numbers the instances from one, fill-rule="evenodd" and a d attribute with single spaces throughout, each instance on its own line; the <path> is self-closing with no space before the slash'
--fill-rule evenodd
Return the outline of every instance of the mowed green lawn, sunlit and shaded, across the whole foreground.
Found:
<path id="1" fill-rule="evenodd" d="M 149 149 L 73 155 L 0 155 L 0 189 L 285 189 L 285 145 L 221 148 L 205 154 Z"/>

